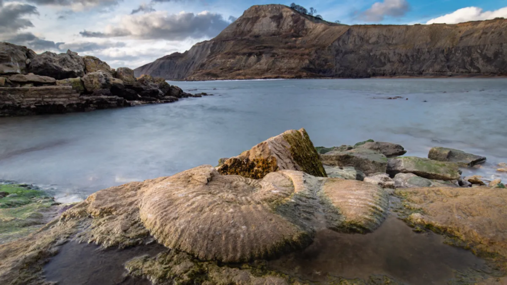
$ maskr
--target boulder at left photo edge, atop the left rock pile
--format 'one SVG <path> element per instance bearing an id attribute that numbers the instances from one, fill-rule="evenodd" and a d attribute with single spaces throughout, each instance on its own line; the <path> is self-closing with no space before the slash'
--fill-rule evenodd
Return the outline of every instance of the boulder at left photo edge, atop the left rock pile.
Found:
<path id="1" fill-rule="evenodd" d="M 0 43 L 0 75 L 25 74 L 35 53 L 23 46 Z"/>

